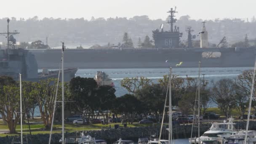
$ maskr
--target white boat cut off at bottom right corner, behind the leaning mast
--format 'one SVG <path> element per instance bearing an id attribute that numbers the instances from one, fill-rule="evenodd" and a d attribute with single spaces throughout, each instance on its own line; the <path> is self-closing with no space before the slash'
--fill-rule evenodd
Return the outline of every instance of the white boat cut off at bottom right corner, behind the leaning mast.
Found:
<path id="1" fill-rule="evenodd" d="M 239 131 L 226 139 L 225 144 L 256 144 L 256 131 L 248 131 L 247 142 L 245 143 L 245 132 Z"/>

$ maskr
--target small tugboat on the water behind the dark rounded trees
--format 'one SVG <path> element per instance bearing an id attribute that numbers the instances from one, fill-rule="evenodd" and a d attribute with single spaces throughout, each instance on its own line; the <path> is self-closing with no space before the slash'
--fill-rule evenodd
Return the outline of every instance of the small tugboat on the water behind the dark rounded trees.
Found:
<path id="1" fill-rule="evenodd" d="M 98 71 L 94 77 L 94 80 L 97 82 L 99 86 L 109 85 L 115 87 L 115 84 L 113 83 L 112 79 L 110 79 L 109 75 L 107 75 L 105 72 Z"/>

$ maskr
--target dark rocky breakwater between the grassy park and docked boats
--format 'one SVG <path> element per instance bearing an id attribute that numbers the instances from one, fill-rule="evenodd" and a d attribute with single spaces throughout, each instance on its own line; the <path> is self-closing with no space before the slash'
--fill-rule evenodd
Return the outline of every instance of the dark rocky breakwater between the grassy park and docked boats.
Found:
<path id="1" fill-rule="evenodd" d="M 242 122 L 235 122 L 237 123 L 235 125 L 235 128 L 237 130 L 239 129 L 245 129 L 246 121 Z M 203 123 L 200 125 L 200 134 L 203 134 L 205 131 L 207 131 L 211 126 L 211 123 Z M 168 131 L 166 130 L 168 128 L 168 125 L 164 125 L 163 131 L 162 131 L 162 138 L 168 139 Z M 256 121 L 250 122 L 250 130 L 256 130 Z M 180 138 L 189 138 L 191 135 L 192 125 L 175 125 L 173 126 L 173 137 L 174 139 L 180 139 Z M 193 128 L 193 134 L 197 134 L 197 128 Z M 85 131 L 85 135 L 90 135 L 92 137 L 95 137 L 96 139 L 104 139 L 107 140 L 108 143 L 113 143 L 119 138 L 122 139 L 133 139 L 138 140 L 139 136 L 150 136 L 153 134 L 159 135 L 160 126 L 159 125 L 152 125 L 148 127 L 134 127 L 134 128 L 107 128 L 107 129 L 101 129 L 97 131 Z M 65 133 L 65 136 L 76 136 L 80 133 Z M 59 139 L 61 138 L 61 134 L 55 133 L 52 135 L 52 144 L 59 144 Z M 28 136 L 29 144 L 48 144 L 49 141 L 49 134 L 36 134 L 32 136 Z M 11 144 L 13 140 L 13 136 L 5 136 L 0 137 L 0 144 Z M 19 139 L 17 139 L 19 140 Z"/>

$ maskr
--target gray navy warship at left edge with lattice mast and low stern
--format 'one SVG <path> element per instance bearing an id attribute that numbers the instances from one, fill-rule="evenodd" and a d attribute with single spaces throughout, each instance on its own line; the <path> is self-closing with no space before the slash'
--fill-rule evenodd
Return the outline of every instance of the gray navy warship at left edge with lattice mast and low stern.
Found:
<path id="1" fill-rule="evenodd" d="M 0 49 L 0 75 L 7 75 L 13 77 L 14 80 L 19 80 L 20 73 L 22 80 L 27 81 L 58 77 L 59 70 L 48 71 L 48 69 L 43 69 L 43 72 L 38 73 L 37 60 L 34 54 L 23 48 L 16 48 L 16 39 L 13 35 L 19 34 L 19 32 L 9 32 L 9 21 L 8 19 L 7 32 L 0 33 L 0 35 L 5 35 L 7 38 L 7 47 Z M 60 63 L 61 51 L 56 57 L 59 57 Z M 59 64 L 56 65 L 56 67 L 58 66 Z M 64 80 L 71 80 L 72 77 L 75 77 L 76 72 L 77 68 L 64 69 Z"/>

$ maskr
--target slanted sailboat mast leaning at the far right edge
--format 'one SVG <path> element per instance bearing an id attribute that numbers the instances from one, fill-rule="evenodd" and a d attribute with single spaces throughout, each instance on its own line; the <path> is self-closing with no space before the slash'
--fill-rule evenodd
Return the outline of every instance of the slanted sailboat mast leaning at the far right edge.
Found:
<path id="1" fill-rule="evenodd" d="M 246 123 L 246 131 L 245 131 L 245 144 L 247 144 L 247 135 L 248 135 L 248 128 L 249 128 L 249 118 L 251 114 L 251 101 L 253 99 L 253 89 L 254 89 L 254 80 L 255 80 L 255 72 L 256 72 L 256 58 L 255 58 L 255 64 L 254 64 L 254 71 L 253 71 L 253 80 L 252 80 L 252 85 L 251 85 L 251 96 L 250 96 L 250 102 L 249 102 L 249 110 L 248 110 L 248 115 L 247 115 L 247 123 Z"/>

